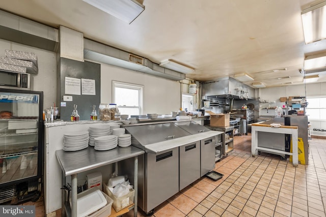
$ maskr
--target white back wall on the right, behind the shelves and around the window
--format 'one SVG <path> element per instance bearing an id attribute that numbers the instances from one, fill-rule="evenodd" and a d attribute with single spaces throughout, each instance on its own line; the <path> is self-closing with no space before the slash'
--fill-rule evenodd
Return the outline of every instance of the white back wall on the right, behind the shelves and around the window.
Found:
<path id="1" fill-rule="evenodd" d="M 325 96 L 326 95 L 326 82 L 314 83 L 314 84 L 301 84 L 301 85 L 291 85 L 291 86 L 283 86 L 283 87 L 269 87 L 269 88 L 260 88 L 259 89 L 259 99 L 260 101 L 266 100 L 268 103 L 260 103 L 259 114 L 260 115 L 268 115 L 266 114 L 266 110 L 262 110 L 261 108 L 271 105 L 271 106 L 282 106 L 284 103 L 280 102 L 280 97 L 290 97 L 290 96 Z M 275 104 L 270 103 L 275 102 Z M 269 114 L 274 114 L 274 111 L 268 111 Z M 310 129 L 326 129 L 326 121 L 322 120 L 312 120 L 308 121 L 311 124 Z"/>

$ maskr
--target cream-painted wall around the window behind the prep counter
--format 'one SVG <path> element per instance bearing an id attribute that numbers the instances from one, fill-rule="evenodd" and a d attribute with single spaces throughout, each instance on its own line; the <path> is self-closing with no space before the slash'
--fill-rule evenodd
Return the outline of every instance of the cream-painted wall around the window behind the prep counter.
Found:
<path id="1" fill-rule="evenodd" d="M 88 60 L 90 61 L 90 60 Z M 180 83 L 101 64 L 101 103 L 112 103 L 112 81 L 144 85 L 143 114 L 170 114 L 181 106 Z"/>

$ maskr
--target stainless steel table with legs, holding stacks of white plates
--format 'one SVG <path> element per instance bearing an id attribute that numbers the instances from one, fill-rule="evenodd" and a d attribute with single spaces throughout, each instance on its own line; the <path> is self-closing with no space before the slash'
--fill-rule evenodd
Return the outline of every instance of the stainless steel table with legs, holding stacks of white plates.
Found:
<path id="1" fill-rule="evenodd" d="M 85 172 L 108 164 L 113 164 L 125 159 L 134 158 L 134 216 L 137 216 L 137 194 L 138 194 L 138 156 L 145 153 L 137 147 L 116 147 L 107 151 L 98 151 L 94 147 L 88 147 L 79 151 L 57 150 L 56 156 L 62 169 L 62 185 L 66 184 L 66 176 L 71 175 L 71 209 L 69 202 L 65 203 L 62 196 L 62 214 L 66 209 L 67 215 L 77 216 L 77 173 Z"/>

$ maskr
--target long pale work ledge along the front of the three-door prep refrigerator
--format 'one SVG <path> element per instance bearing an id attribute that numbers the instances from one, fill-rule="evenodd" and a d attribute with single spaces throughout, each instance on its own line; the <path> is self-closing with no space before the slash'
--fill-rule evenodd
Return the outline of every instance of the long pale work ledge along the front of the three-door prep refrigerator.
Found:
<path id="1" fill-rule="evenodd" d="M 202 139 L 207 139 L 212 136 L 222 134 L 221 131 L 208 131 L 190 136 L 184 136 L 176 139 L 171 139 L 163 142 L 157 142 L 150 145 L 146 145 L 146 152 L 159 154 L 162 151 L 166 151 L 172 148 L 176 148 L 182 145 L 186 145 L 192 142 L 196 142 Z"/>

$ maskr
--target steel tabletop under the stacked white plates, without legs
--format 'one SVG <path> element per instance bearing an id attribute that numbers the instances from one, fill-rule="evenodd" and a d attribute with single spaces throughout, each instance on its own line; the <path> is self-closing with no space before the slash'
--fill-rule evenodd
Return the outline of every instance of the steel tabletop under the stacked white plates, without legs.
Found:
<path id="1" fill-rule="evenodd" d="M 98 151 L 89 146 L 79 151 L 57 150 L 56 156 L 66 176 L 113 164 L 145 153 L 137 147 L 116 147 L 107 151 Z"/>

